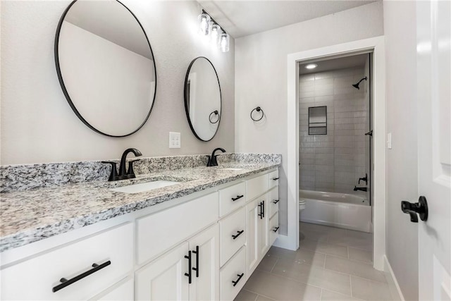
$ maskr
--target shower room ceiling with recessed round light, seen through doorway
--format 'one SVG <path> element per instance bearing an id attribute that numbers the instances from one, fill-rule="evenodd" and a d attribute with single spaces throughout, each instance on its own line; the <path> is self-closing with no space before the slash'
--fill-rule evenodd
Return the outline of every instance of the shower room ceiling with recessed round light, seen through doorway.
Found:
<path id="1" fill-rule="evenodd" d="M 368 59 L 368 54 L 358 54 L 355 56 L 345 56 L 339 59 L 328 59 L 323 61 L 309 61 L 306 63 L 299 64 L 299 75 L 309 74 L 309 73 L 319 73 L 323 71 L 338 70 L 353 67 L 364 68 L 366 59 Z M 316 63 L 318 65 L 314 69 L 304 68 L 309 63 Z"/>

